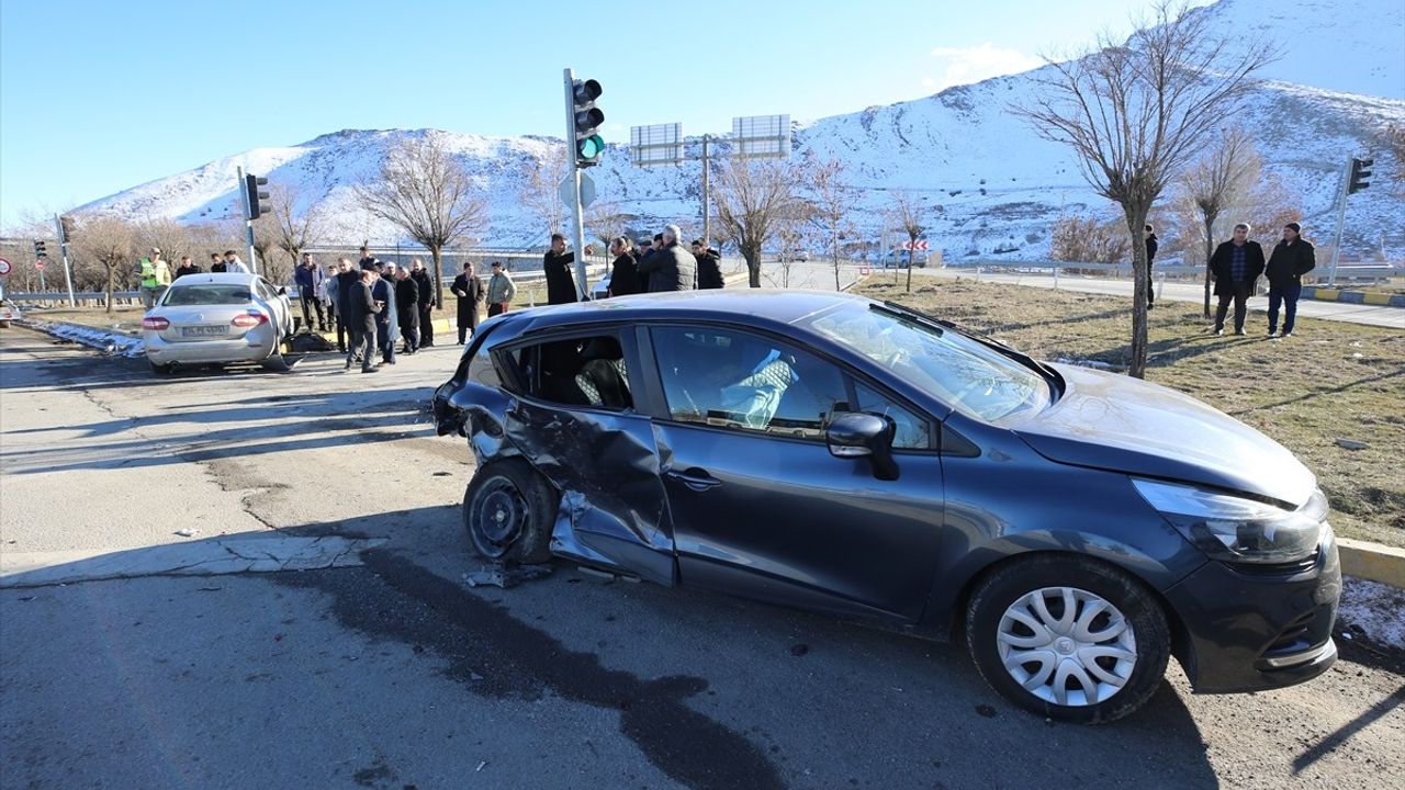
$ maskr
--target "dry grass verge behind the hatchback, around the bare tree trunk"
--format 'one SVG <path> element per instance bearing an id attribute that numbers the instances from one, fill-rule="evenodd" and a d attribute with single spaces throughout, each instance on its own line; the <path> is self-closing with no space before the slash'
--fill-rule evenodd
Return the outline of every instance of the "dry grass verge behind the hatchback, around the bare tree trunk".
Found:
<path id="1" fill-rule="evenodd" d="M 856 292 L 955 320 L 1040 358 L 1123 365 L 1128 353 L 1130 299 L 968 281 L 905 294 L 887 278 Z M 1295 453 L 1331 499 L 1338 534 L 1405 547 L 1405 333 L 1300 318 L 1293 337 L 1264 340 L 1262 312 L 1250 312 L 1246 329 L 1246 337 L 1215 337 L 1197 305 L 1158 302 L 1148 381 L 1200 398 Z M 1339 439 L 1367 447 L 1346 450 Z"/>

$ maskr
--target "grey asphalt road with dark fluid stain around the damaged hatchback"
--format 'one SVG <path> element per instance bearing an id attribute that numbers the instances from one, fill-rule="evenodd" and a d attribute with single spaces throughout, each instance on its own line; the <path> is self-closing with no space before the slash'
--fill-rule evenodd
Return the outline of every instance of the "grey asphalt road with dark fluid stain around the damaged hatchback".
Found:
<path id="1" fill-rule="evenodd" d="M 0 784 L 1405 786 L 1405 663 L 1350 642 L 1252 696 L 1173 666 L 1086 728 L 954 645 L 565 562 L 471 589 L 471 457 L 424 410 L 457 351 L 156 378 L 0 330 Z M 280 548 L 325 536 L 379 540 Z"/>

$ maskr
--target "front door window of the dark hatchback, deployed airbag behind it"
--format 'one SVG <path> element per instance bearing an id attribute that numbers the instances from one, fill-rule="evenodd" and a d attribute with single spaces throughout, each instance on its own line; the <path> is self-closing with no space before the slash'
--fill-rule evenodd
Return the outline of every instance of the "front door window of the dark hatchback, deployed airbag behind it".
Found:
<path id="1" fill-rule="evenodd" d="M 839 368 L 785 343 L 731 329 L 649 335 L 674 420 L 823 440 L 849 410 Z"/>

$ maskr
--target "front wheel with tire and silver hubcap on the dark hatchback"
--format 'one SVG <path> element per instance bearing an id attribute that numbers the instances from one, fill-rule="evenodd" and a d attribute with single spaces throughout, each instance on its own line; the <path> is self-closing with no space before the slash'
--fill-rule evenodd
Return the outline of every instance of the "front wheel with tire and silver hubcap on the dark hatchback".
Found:
<path id="1" fill-rule="evenodd" d="M 967 647 L 1014 704 L 1058 721 L 1131 714 L 1161 686 L 1170 658 L 1166 614 L 1128 574 L 1075 555 L 1002 565 L 971 595 Z"/>

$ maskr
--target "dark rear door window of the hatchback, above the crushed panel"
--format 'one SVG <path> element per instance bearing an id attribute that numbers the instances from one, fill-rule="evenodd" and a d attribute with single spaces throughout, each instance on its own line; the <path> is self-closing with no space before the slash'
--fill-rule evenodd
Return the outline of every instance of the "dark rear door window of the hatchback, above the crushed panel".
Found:
<path id="1" fill-rule="evenodd" d="M 547 340 L 506 353 L 516 371 L 520 395 L 565 406 L 629 409 L 629 371 L 620 339 L 611 335 Z M 481 368 L 469 364 L 469 377 Z M 492 371 L 492 365 L 486 365 Z M 478 381 L 478 378 L 475 378 Z"/>

